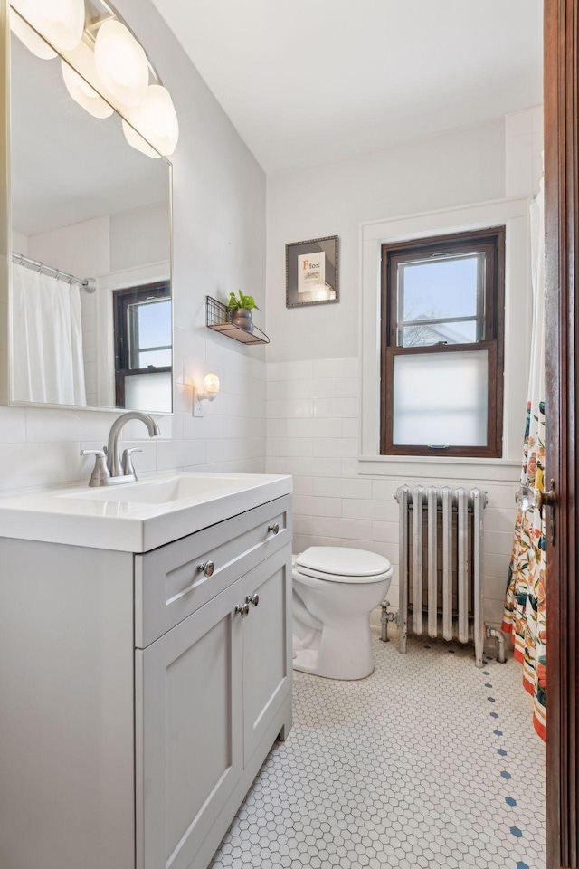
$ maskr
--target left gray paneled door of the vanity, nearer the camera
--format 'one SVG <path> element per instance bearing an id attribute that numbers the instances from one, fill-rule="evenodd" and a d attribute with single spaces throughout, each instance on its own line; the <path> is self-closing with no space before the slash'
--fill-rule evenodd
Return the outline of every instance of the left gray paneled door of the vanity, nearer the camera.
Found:
<path id="1" fill-rule="evenodd" d="M 186 869 L 242 774 L 242 580 L 136 655 L 137 867 Z"/>

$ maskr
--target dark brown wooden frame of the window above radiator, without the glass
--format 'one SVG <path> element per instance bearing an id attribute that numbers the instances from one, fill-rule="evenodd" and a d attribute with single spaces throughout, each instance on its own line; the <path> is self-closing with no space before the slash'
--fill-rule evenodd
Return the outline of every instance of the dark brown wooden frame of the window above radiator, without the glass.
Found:
<path id="1" fill-rule="evenodd" d="M 485 253 L 486 282 L 483 332 L 476 342 L 399 347 L 397 344 L 398 263 L 424 256 L 449 253 Z M 481 320 L 482 321 L 482 320 Z M 380 453 L 383 455 L 445 455 L 496 459 L 502 456 L 503 377 L 505 345 L 505 227 L 495 226 L 475 232 L 438 235 L 382 245 L 382 322 L 381 322 L 381 408 Z M 436 446 L 394 444 L 394 359 L 417 353 L 489 351 L 489 394 L 486 446 Z"/>

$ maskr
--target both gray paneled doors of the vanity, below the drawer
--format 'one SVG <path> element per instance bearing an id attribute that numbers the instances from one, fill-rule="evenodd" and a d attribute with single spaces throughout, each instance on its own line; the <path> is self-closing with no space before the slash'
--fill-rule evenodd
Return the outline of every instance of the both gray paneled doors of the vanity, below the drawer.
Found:
<path id="1" fill-rule="evenodd" d="M 288 556 L 280 547 L 135 653 L 138 869 L 204 867 L 200 845 L 214 826 L 221 841 L 243 770 L 271 746 L 272 726 L 285 729 Z"/>

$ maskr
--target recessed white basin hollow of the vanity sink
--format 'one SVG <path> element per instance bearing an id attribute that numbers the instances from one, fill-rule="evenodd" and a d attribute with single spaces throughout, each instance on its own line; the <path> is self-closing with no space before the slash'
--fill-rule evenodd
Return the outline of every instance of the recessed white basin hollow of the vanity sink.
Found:
<path id="1" fill-rule="evenodd" d="M 168 504 L 185 498 L 214 498 L 219 493 L 240 492 L 246 489 L 251 477 L 240 480 L 239 474 L 180 474 L 169 480 L 138 480 L 119 486 L 102 486 L 83 492 L 63 492 L 59 498 L 79 498 L 84 501 L 115 501 L 123 504 Z"/>

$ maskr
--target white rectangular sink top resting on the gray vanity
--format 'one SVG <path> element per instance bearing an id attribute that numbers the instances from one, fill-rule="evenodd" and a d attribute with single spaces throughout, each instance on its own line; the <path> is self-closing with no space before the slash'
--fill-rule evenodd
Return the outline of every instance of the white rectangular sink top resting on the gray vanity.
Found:
<path id="1" fill-rule="evenodd" d="M 147 552 L 291 492 L 265 473 L 163 473 L 0 497 L 0 537 Z"/>

